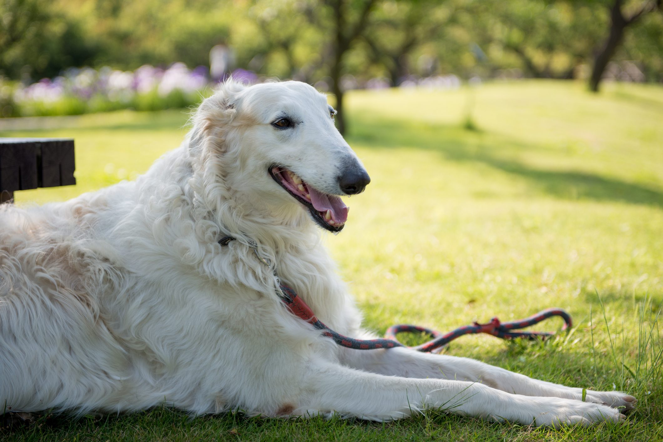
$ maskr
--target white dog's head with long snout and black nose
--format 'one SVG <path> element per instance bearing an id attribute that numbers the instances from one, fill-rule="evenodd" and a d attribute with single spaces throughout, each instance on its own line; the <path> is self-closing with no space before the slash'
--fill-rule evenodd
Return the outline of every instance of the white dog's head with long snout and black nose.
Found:
<path id="1" fill-rule="evenodd" d="M 304 209 L 338 232 L 348 213 L 339 196 L 363 192 L 371 179 L 334 126 L 335 113 L 306 83 L 226 82 L 196 112 L 191 145 L 235 199 L 286 218 Z"/>

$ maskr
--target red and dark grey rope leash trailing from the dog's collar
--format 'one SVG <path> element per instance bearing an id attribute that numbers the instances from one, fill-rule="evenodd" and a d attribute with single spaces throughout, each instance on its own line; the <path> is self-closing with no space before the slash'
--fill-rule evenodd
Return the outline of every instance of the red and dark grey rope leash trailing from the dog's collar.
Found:
<path id="1" fill-rule="evenodd" d="M 221 246 L 227 246 L 233 237 L 223 237 L 219 244 Z M 254 249 L 255 250 L 255 249 Z M 257 254 L 257 252 L 256 252 Z M 259 259 L 263 262 L 263 258 Z M 267 262 L 265 262 L 267 264 Z M 269 265 L 269 264 L 268 264 Z M 347 347 L 349 349 L 355 350 L 375 350 L 375 349 L 393 349 L 394 347 L 407 347 L 406 345 L 401 344 L 396 339 L 397 333 L 426 333 L 433 339 L 417 345 L 416 347 L 408 347 L 416 351 L 422 352 L 432 352 L 444 345 L 447 345 L 453 339 L 461 337 L 463 335 L 473 335 L 475 333 L 487 333 L 489 335 L 497 336 L 501 339 L 513 339 L 513 338 L 526 338 L 526 339 L 546 339 L 554 335 L 554 332 L 550 331 L 516 331 L 524 327 L 529 327 L 536 323 L 540 323 L 545 319 L 548 319 L 552 316 L 559 316 L 564 319 L 564 326 L 562 330 L 568 330 L 572 327 L 571 315 L 560 308 L 550 308 L 536 313 L 525 319 L 520 319 L 520 321 L 509 321 L 509 322 L 500 322 L 497 317 L 491 319 L 489 323 L 479 324 L 477 322 L 472 325 L 465 325 L 464 327 L 458 327 L 457 329 L 450 331 L 449 333 L 442 334 L 439 331 L 427 329 L 426 327 L 420 327 L 418 325 L 408 325 L 408 324 L 398 324 L 392 325 L 387 329 L 385 333 L 385 339 L 354 339 L 351 337 L 343 336 L 340 333 L 336 333 L 320 319 L 318 319 L 310 309 L 306 302 L 302 300 L 292 288 L 280 284 L 281 290 L 281 300 L 284 302 L 286 307 L 294 314 L 295 316 L 303 319 L 304 321 L 310 323 L 318 330 L 322 330 L 323 334 L 327 337 L 333 339 L 335 343 L 341 345 L 342 347 Z"/>

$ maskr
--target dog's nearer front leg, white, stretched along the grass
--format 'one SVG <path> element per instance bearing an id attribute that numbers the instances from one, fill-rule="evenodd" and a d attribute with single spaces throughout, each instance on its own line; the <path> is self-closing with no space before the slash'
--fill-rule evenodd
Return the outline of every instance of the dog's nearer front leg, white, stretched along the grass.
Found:
<path id="1" fill-rule="evenodd" d="M 618 421 L 618 410 L 562 398 L 508 394 L 479 382 L 385 376 L 333 363 L 310 364 L 293 414 L 398 419 L 424 408 L 495 421 L 560 425 Z"/>

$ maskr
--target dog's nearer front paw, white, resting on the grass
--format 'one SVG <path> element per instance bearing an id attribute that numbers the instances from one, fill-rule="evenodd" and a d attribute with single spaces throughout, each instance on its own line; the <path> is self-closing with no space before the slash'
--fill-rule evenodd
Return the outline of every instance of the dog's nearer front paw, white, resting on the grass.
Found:
<path id="1" fill-rule="evenodd" d="M 521 423 L 531 423 L 537 427 L 575 424 L 586 426 L 601 421 L 618 422 L 625 418 L 620 410 L 595 402 L 560 398 L 532 398 L 532 402 L 534 402 L 530 404 L 532 416 L 525 417 Z"/>

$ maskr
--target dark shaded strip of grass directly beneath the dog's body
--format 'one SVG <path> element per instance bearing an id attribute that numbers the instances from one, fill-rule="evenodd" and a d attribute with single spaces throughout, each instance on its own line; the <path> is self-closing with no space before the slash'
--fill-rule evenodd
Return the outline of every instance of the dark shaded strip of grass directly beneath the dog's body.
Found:
<path id="1" fill-rule="evenodd" d="M 247 438 L 251 440 L 412 440 L 412 430 L 422 433 L 422 422 L 451 423 L 455 431 L 490 425 L 444 412 L 429 410 L 426 417 L 375 422 L 355 417 L 333 416 L 310 419 L 276 419 L 248 416 L 242 412 L 216 415 L 189 415 L 168 406 L 156 406 L 145 412 L 125 415 L 74 417 L 44 412 L 35 414 L 30 423 L 0 428 L 7 440 L 117 440 L 125 439 L 131 428 L 131 440 L 216 440 Z M 448 425 L 445 425 L 445 429 Z M 497 431 L 500 431 L 499 427 Z M 465 430 L 467 431 L 467 430 Z M 518 429 L 516 428 L 516 431 Z M 471 431 L 472 432 L 472 431 Z M 502 431 L 500 431 L 501 433 Z M 117 439 L 116 439 L 117 438 Z M 445 438 L 448 439 L 448 438 Z M 5 439 L 3 439 L 5 440 Z M 501 440 L 501 439 L 499 439 Z"/>

